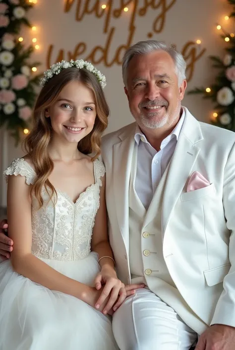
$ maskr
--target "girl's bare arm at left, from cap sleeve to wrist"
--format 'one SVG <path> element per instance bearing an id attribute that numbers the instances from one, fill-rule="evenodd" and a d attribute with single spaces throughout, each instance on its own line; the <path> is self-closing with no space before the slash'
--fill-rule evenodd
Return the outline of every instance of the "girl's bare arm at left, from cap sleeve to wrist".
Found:
<path id="1" fill-rule="evenodd" d="M 91 288 L 72 280 L 38 259 L 31 253 L 32 225 L 30 186 L 23 176 L 9 176 L 7 187 L 8 235 L 14 241 L 11 264 L 18 274 L 51 290 L 87 300 Z"/>

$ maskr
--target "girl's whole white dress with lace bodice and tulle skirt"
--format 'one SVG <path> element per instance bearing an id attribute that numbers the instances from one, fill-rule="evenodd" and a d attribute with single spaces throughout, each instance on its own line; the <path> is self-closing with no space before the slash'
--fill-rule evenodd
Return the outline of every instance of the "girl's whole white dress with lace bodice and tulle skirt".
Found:
<path id="1" fill-rule="evenodd" d="M 28 185 L 36 174 L 24 159 L 16 159 L 4 175 L 21 175 Z M 90 242 L 99 193 L 105 174 L 94 161 L 95 184 L 76 203 L 57 190 L 56 206 L 37 210 L 32 201 L 32 254 L 63 275 L 93 285 L 100 267 Z M 19 203 L 20 206 L 20 203 Z M 85 302 L 52 291 L 17 273 L 10 261 L 0 264 L 0 350 L 116 350 L 109 317 Z"/>

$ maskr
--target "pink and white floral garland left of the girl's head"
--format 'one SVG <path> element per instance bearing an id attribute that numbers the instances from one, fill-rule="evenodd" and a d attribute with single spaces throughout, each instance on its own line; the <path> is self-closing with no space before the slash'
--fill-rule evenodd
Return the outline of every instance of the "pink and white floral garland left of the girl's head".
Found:
<path id="1" fill-rule="evenodd" d="M 30 27 L 26 18 L 32 7 L 26 0 L 0 0 L 0 127 L 11 131 L 16 143 L 22 130 L 29 128 L 32 108 L 41 75 L 32 75 L 28 63 L 34 51 L 18 41 L 21 25 Z"/>

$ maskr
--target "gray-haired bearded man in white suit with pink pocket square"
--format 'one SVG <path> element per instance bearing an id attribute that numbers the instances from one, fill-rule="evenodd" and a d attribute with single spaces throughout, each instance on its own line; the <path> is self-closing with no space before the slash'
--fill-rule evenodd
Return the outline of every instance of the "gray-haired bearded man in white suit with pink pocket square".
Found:
<path id="1" fill-rule="evenodd" d="M 196 350 L 235 349 L 235 134 L 181 107 L 185 68 L 163 43 L 130 47 L 136 122 L 103 139 L 119 278 L 146 284 L 113 316 L 121 350 L 188 350 L 197 335 Z"/>

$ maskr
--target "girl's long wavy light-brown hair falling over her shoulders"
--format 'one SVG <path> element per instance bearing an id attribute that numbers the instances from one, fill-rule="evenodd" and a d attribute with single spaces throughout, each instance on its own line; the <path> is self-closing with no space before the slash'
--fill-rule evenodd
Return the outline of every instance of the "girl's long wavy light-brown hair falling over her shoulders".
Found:
<path id="1" fill-rule="evenodd" d="M 90 134 L 86 135 L 77 144 L 77 148 L 84 154 L 93 154 L 94 161 L 101 153 L 101 137 L 108 126 L 109 106 L 106 102 L 103 89 L 89 70 L 67 68 L 59 74 L 55 74 L 42 88 L 33 111 L 33 127 L 24 140 L 24 150 L 29 154 L 33 162 L 37 178 L 31 188 L 31 198 L 34 196 L 38 200 L 39 208 L 43 206 L 42 190 L 46 189 L 50 200 L 56 196 L 57 191 L 49 181 L 49 176 L 53 171 L 53 160 L 49 155 L 48 146 L 52 139 L 53 129 L 50 118 L 46 118 L 45 111 L 52 106 L 62 88 L 71 81 L 80 81 L 88 87 L 94 95 L 96 102 L 96 119 L 94 128 Z M 53 200 L 54 204 L 56 201 Z"/>

